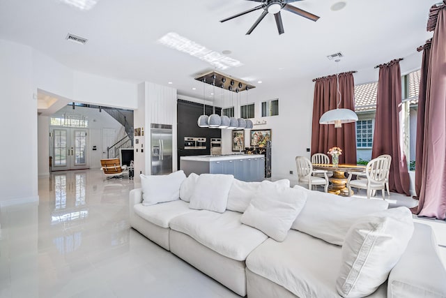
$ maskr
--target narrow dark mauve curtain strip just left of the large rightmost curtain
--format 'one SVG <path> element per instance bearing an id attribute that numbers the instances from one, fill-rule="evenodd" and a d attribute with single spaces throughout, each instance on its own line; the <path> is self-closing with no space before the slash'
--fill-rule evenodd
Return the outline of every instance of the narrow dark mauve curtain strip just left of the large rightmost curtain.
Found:
<path id="1" fill-rule="evenodd" d="M 424 143 L 424 114 L 426 106 L 426 88 L 429 70 L 429 57 L 431 56 L 431 40 L 417 49 L 423 51 L 420 77 L 420 93 L 418 94 L 418 112 L 417 112 L 417 141 L 415 144 L 415 193 L 420 198 L 422 168 L 423 168 L 423 143 Z"/>

